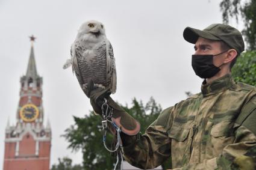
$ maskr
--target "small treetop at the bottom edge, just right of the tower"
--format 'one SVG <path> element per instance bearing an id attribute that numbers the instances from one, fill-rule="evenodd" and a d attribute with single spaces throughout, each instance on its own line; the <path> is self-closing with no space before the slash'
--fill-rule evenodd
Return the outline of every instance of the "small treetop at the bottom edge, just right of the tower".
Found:
<path id="1" fill-rule="evenodd" d="M 58 159 L 57 165 L 52 165 L 51 170 L 82 170 L 83 166 L 74 165 L 72 166 L 72 159 L 69 157 L 63 157 L 63 159 Z"/>

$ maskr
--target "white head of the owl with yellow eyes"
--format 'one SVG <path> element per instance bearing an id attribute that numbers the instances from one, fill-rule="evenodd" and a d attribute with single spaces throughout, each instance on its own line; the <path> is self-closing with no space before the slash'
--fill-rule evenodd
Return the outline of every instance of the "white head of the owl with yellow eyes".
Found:
<path id="1" fill-rule="evenodd" d="M 92 34 L 96 37 L 100 37 L 101 35 L 105 36 L 105 28 L 101 22 L 98 22 L 97 20 L 89 20 L 80 26 L 78 34 Z"/>

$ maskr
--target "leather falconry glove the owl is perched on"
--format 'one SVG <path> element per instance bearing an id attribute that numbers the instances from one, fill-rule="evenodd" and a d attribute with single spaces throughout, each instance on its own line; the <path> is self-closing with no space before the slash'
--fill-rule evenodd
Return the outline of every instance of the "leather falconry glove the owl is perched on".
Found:
<path id="1" fill-rule="evenodd" d="M 102 116 L 102 105 L 107 99 L 107 105 L 113 108 L 111 120 L 122 130 L 126 135 L 137 135 L 140 132 L 140 123 L 125 112 L 119 105 L 111 99 L 110 89 L 96 87 L 92 80 L 87 83 L 86 96 L 90 98 L 90 103 L 96 114 Z"/>

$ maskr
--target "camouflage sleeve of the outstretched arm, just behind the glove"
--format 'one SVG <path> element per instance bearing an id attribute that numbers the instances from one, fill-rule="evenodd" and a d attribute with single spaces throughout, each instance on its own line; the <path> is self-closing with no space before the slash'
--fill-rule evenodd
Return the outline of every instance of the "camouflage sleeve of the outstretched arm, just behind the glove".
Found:
<path id="1" fill-rule="evenodd" d="M 170 157 L 170 138 L 167 130 L 172 123 L 173 107 L 165 109 L 144 135 L 122 135 L 123 157 L 131 165 L 142 169 L 155 168 Z"/>

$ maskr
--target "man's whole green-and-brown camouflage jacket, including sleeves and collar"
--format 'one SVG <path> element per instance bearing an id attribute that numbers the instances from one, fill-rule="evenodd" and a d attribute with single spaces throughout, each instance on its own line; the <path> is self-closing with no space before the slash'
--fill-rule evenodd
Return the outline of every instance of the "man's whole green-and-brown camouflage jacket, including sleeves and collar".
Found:
<path id="1" fill-rule="evenodd" d="M 230 74 L 165 109 L 144 135 L 125 137 L 125 160 L 142 169 L 256 169 L 256 90 Z M 122 139 L 123 140 L 123 139 Z"/>

